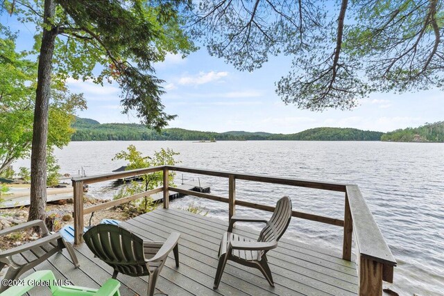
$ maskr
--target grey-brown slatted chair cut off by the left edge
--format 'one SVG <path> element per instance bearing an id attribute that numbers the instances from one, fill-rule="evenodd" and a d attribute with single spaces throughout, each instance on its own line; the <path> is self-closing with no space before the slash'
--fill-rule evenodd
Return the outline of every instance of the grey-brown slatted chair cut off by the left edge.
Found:
<path id="1" fill-rule="evenodd" d="M 36 265 L 42 263 L 53 254 L 62 252 L 66 247 L 71 261 L 78 268 L 76 253 L 70 243 L 67 243 L 60 233 L 51 234 L 42 220 L 33 220 L 20 225 L 3 229 L 0 236 L 11 234 L 13 232 L 21 232 L 31 227 L 40 227 L 42 237 L 31 243 L 25 243 L 10 250 L 0 252 L 0 270 L 5 265 L 9 266 L 8 272 L 4 279 L 18 279 L 24 272 L 33 269 Z M 32 252 L 35 259 L 29 259 L 29 252 Z M 5 281 L 6 283 L 8 281 Z M 9 286 L 1 285 L 0 292 L 6 290 Z"/>

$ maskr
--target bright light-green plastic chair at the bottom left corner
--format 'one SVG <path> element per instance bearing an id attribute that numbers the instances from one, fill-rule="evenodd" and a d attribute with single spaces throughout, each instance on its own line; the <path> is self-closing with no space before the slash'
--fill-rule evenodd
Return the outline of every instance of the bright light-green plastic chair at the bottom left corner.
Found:
<path id="1" fill-rule="evenodd" d="M 49 282 L 48 288 L 51 289 L 53 296 L 120 296 L 120 283 L 117 279 L 108 279 L 105 284 L 99 289 L 84 288 L 78 286 L 56 286 L 56 277 L 51 270 L 39 270 L 32 275 L 28 275 L 23 279 L 24 286 L 11 286 L 0 296 L 19 296 L 24 295 L 34 286 L 27 286 L 26 284 L 33 284 L 39 281 Z M 31 293 L 32 295 L 32 293 Z"/>

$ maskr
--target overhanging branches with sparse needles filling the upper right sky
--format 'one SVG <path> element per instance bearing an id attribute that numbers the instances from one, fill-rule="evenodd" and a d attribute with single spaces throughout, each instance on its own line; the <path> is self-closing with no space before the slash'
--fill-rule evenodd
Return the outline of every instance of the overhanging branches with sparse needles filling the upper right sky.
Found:
<path id="1" fill-rule="evenodd" d="M 253 71 L 293 60 L 286 104 L 351 109 L 373 92 L 444 88 L 442 1 L 197 1 L 194 33 L 211 55 Z"/>

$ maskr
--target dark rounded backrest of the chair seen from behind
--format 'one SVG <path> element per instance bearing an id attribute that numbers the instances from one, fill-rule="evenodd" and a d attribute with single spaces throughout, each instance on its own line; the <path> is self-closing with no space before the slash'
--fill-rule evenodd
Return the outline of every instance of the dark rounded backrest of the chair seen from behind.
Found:
<path id="1" fill-rule="evenodd" d="M 143 240 L 128 230 L 117 225 L 99 224 L 91 227 L 83 239 L 94 255 L 114 268 L 115 276 L 116 272 L 132 277 L 149 274 Z"/>

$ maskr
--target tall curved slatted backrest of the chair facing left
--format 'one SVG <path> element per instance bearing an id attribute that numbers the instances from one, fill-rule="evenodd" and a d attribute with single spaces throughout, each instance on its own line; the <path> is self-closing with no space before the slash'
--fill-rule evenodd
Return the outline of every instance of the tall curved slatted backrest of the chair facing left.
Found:
<path id="1" fill-rule="evenodd" d="M 262 229 L 257 241 L 279 241 L 290 224 L 291 212 L 291 200 L 288 196 L 284 196 L 278 200 L 275 211 L 273 211 L 273 216 L 271 216 L 268 221 L 268 225 Z"/>

